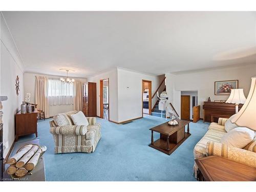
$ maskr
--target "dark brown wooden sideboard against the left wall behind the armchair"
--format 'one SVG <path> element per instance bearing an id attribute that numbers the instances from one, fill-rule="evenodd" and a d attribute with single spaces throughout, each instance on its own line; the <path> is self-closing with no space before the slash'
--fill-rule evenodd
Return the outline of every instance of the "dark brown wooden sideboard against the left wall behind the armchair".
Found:
<path id="1" fill-rule="evenodd" d="M 32 113 L 22 114 L 20 111 L 15 115 L 15 141 L 19 136 L 35 134 L 37 137 L 37 110 Z"/>

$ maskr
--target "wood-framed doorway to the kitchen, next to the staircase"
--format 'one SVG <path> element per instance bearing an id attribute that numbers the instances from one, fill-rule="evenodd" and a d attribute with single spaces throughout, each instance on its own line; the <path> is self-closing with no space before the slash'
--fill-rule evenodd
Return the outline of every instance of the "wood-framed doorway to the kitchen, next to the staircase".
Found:
<path id="1" fill-rule="evenodd" d="M 152 110 L 152 81 L 142 80 L 142 117 L 151 115 Z"/>

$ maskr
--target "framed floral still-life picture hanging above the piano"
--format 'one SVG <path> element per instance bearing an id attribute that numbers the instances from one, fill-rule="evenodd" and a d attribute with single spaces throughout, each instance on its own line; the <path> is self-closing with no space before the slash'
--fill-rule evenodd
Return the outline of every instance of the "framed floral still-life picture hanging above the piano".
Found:
<path id="1" fill-rule="evenodd" d="M 230 95 L 231 89 L 238 89 L 238 80 L 215 81 L 215 95 Z"/>

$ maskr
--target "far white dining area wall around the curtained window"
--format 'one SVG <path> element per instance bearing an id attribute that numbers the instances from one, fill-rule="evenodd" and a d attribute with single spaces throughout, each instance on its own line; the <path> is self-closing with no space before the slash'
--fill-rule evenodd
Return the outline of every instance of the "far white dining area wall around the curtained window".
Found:
<path id="1" fill-rule="evenodd" d="M 24 96 L 27 93 L 31 94 L 30 102 L 35 103 L 35 76 L 47 76 L 48 78 L 60 78 L 60 76 L 52 76 L 52 75 L 42 75 L 35 73 L 24 73 Z M 78 79 L 78 78 L 75 78 Z M 82 82 L 86 82 L 86 78 L 80 78 Z M 65 113 L 73 110 L 73 104 L 65 104 L 65 105 L 49 105 L 49 115 L 50 117 L 59 114 Z"/>

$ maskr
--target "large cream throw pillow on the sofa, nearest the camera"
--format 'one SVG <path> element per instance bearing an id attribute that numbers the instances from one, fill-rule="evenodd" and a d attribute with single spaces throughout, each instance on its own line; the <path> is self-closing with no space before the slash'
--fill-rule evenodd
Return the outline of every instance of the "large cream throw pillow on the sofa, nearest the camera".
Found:
<path id="1" fill-rule="evenodd" d="M 254 131 L 247 127 L 237 127 L 229 131 L 221 138 L 221 143 L 231 145 L 233 147 L 243 148 L 249 144 L 254 138 Z"/>

